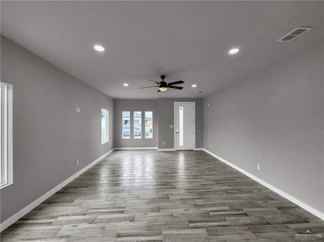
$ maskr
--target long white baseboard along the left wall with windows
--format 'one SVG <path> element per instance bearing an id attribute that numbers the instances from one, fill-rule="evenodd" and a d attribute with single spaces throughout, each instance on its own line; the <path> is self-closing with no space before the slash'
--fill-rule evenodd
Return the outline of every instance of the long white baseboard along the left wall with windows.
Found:
<path id="1" fill-rule="evenodd" d="M 114 149 L 108 151 L 106 154 L 102 155 L 101 157 L 99 157 L 98 159 L 96 159 L 94 162 L 92 162 L 91 164 L 89 164 L 88 166 L 86 166 L 85 168 L 79 170 L 74 175 L 72 175 L 71 177 L 69 177 L 65 181 L 63 181 L 62 183 L 60 183 L 57 186 L 55 186 L 52 190 L 46 192 L 42 197 L 36 199 L 34 202 L 32 202 L 31 204 L 27 205 L 22 210 L 20 210 L 19 212 L 15 213 L 13 216 L 11 216 L 10 218 L 8 218 L 4 222 L 2 222 L 0 224 L 0 232 L 2 232 L 3 230 L 5 230 L 6 228 L 8 228 L 10 225 L 12 225 L 14 222 L 16 222 L 22 216 L 24 216 L 25 214 L 27 214 L 28 212 L 30 212 L 31 210 L 33 210 L 35 207 L 37 207 L 39 204 L 43 203 L 45 200 L 47 200 L 49 197 L 51 197 L 55 192 L 57 192 L 62 187 L 64 187 L 65 185 L 67 185 L 70 181 L 74 180 L 77 176 L 79 176 L 80 174 L 84 173 L 86 170 L 88 170 L 93 165 L 97 164 L 99 161 L 101 161 L 103 158 L 105 158 L 107 155 L 109 155 L 113 150 Z"/>

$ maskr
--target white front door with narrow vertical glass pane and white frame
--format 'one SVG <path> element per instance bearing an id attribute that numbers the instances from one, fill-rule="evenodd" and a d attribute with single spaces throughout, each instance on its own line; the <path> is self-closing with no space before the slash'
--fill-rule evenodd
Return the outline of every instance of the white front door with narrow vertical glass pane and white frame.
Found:
<path id="1" fill-rule="evenodd" d="M 194 150 L 195 148 L 194 107 L 194 102 L 175 102 L 176 150 Z"/>

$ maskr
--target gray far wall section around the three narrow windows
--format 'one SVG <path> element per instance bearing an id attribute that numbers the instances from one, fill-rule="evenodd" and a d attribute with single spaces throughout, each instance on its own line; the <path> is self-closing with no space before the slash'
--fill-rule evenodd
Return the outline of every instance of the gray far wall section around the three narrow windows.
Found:
<path id="1" fill-rule="evenodd" d="M 131 138 L 123 139 L 121 134 L 121 125 L 123 123 L 123 111 L 131 112 Z M 144 138 L 142 130 L 142 138 L 133 138 L 133 112 L 142 111 L 142 124 L 144 124 L 144 112 L 153 111 L 153 138 Z M 114 101 L 114 129 L 115 129 L 115 148 L 139 148 L 139 147 L 157 147 L 158 137 L 158 119 L 157 119 L 157 100 L 145 99 L 116 99 Z"/>

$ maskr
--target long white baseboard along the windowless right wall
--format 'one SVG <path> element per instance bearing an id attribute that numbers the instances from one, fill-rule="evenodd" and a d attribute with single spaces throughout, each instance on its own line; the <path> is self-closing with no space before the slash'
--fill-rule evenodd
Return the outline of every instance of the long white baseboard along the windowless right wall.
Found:
<path id="1" fill-rule="evenodd" d="M 210 151 L 208 151 L 208 150 L 206 150 L 206 149 L 203 149 L 203 150 L 204 150 L 206 153 L 210 154 L 211 156 L 217 158 L 217 159 L 220 160 L 221 162 L 223 162 L 223 163 L 225 163 L 225 164 L 227 164 L 227 165 L 233 167 L 235 170 L 237 170 L 237 171 L 239 171 L 239 172 L 241 172 L 241 173 L 247 175 L 248 177 L 250 177 L 251 179 L 255 180 L 256 182 L 259 182 L 260 184 L 266 186 L 266 187 L 269 188 L 270 190 L 272 190 L 272 191 L 278 193 L 278 195 L 280 195 L 280 196 L 282 196 L 282 197 L 288 199 L 288 200 L 291 201 L 292 203 L 294 203 L 294 204 L 298 205 L 299 207 L 305 209 L 306 211 L 310 212 L 311 214 L 315 215 L 316 217 L 318 217 L 318 218 L 324 220 L 324 213 L 322 213 L 322 212 L 318 211 L 317 209 L 315 209 L 315 208 L 309 206 L 308 204 L 305 204 L 304 202 L 298 200 L 297 198 L 295 198 L 295 197 L 289 195 L 289 194 L 286 193 L 285 191 L 282 191 L 282 190 L 280 190 L 279 188 L 277 188 L 277 187 L 275 187 L 275 186 L 273 186 L 273 185 L 271 185 L 271 184 L 269 184 L 269 183 L 267 183 L 267 182 L 261 180 L 260 178 L 256 177 L 255 175 L 252 175 L 251 173 L 249 173 L 249 172 L 247 172 L 247 171 L 245 171 L 245 170 L 239 168 L 238 166 L 235 166 L 234 164 L 232 164 L 232 163 L 230 163 L 230 162 L 224 160 L 223 158 L 221 158 L 221 157 L 215 155 L 214 153 L 212 153 L 212 152 L 210 152 Z"/>

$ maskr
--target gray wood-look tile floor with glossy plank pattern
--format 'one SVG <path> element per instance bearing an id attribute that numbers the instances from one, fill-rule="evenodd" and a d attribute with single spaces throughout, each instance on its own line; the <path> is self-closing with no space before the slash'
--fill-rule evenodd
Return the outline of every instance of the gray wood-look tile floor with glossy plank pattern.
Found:
<path id="1" fill-rule="evenodd" d="M 203 151 L 114 151 L 1 241 L 324 241 L 324 222 Z"/>

